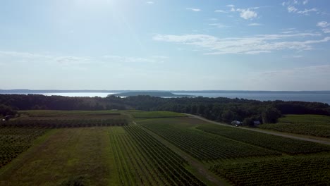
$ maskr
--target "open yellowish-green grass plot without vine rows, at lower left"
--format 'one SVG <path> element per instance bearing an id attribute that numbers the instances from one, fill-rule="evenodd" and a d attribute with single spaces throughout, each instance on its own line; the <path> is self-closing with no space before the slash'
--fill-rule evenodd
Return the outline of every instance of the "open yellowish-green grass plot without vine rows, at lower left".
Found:
<path id="1" fill-rule="evenodd" d="M 56 130 L 38 147 L 5 166 L 0 185 L 116 184 L 109 147 L 108 128 Z"/>

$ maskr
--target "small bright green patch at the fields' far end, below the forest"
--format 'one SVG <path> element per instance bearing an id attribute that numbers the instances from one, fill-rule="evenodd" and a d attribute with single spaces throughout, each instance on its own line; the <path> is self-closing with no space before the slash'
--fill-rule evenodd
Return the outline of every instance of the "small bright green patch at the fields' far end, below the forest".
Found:
<path id="1" fill-rule="evenodd" d="M 134 118 L 174 118 L 174 117 L 187 117 L 183 113 L 175 113 L 169 111 L 137 111 L 131 112 Z"/>

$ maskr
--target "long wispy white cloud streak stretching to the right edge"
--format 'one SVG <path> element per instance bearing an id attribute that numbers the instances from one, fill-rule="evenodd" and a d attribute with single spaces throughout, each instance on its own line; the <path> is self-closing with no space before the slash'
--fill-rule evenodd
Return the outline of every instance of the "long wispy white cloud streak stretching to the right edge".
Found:
<path id="1" fill-rule="evenodd" d="M 279 50 L 311 50 L 313 44 L 329 42 L 330 37 L 319 37 L 319 33 L 298 33 L 292 35 L 254 35 L 251 37 L 218 38 L 211 35 L 156 35 L 156 41 L 188 44 L 209 52 L 205 54 L 260 54 Z"/>

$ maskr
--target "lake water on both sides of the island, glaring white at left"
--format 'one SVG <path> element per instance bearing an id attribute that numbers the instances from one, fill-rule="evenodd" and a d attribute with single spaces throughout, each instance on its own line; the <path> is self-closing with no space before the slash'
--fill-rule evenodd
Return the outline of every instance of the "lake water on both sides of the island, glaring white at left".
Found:
<path id="1" fill-rule="evenodd" d="M 21 93 L 24 94 L 24 93 Z M 106 97 L 109 92 L 70 92 L 70 93 L 38 93 L 46 96 L 56 95 L 63 97 Z M 279 94 L 279 93 L 175 93 L 193 95 L 196 97 L 228 97 L 228 98 L 240 98 L 240 99 L 255 99 L 259 101 L 310 101 L 310 102 L 321 102 L 330 104 L 330 94 Z"/>

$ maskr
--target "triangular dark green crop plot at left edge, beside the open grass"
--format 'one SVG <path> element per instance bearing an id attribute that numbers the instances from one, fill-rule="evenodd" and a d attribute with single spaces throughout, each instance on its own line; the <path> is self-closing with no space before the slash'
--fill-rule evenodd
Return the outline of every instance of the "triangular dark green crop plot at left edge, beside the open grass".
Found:
<path id="1" fill-rule="evenodd" d="M 0 128 L 0 168 L 13 161 L 47 130 L 42 128 Z"/>

